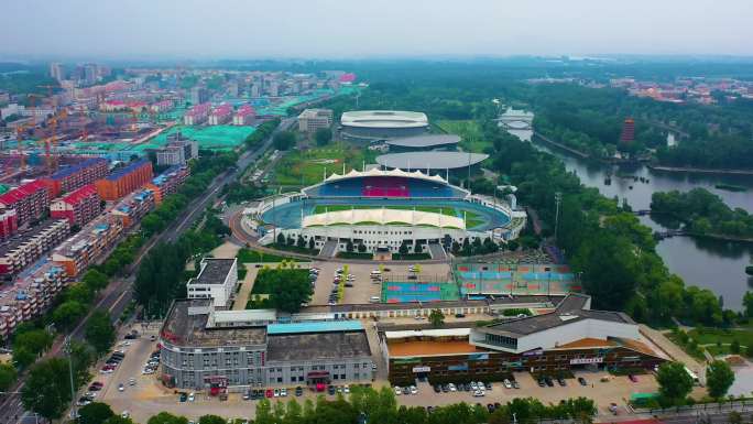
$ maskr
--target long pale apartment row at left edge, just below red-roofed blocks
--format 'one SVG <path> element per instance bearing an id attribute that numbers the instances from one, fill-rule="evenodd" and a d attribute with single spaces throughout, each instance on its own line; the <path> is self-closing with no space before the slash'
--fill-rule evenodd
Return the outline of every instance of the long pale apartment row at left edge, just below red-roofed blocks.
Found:
<path id="1" fill-rule="evenodd" d="M 70 231 L 67 219 L 48 219 L 0 244 L 0 274 L 15 275 L 57 246 Z"/>

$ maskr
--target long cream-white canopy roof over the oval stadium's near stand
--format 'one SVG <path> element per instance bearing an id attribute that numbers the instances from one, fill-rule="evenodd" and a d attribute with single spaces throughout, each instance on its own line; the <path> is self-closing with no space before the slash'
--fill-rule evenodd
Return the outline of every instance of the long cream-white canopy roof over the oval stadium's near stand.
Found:
<path id="1" fill-rule="evenodd" d="M 329 225 L 356 225 L 359 222 L 375 222 L 376 225 L 401 222 L 408 226 L 427 225 L 433 227 L 466 228 L 466 222 L 458 217 L 444 214 L 427 213 L 412 209 L 351 209 L 336 210 L 304 217 L 303 227 Z"/>

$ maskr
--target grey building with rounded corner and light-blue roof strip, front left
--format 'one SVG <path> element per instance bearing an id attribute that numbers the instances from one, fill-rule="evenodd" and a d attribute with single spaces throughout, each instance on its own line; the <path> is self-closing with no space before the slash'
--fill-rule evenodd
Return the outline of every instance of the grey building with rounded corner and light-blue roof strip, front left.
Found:
<path id="1" fill-rule="evenodd" d="M 162 381 L 225 390 L 371 382 L 373 361 L 357 320 L 277 316 L 274 311 L 215 311 L 208 298 L 173 303 L 160 331 Z"/>

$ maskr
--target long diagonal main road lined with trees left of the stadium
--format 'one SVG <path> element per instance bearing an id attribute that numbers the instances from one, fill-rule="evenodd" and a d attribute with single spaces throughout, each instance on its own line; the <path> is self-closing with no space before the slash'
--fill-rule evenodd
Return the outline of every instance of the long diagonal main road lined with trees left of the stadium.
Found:
<path id="1" fill-rule="evenodd" d="M 88 320 L 91 312 L 96 309 L 106 309 L 112 316 L 113 323 L 118 319 L 120 314 L 123 312 L 126 306 L 131 302 L 133 297 L 133 292 L 131 287 L 133 281 L 135 280 L 134 270 L 138 269 L 139 264 L 143 258 L 149 253 L 155 244 L 160 242 L 174 242 L 177 238 L 185 231 L 190 225 L 204 213 L 206 206 L 217 198 L 218 193 L 222 187 L 230 182 L 242 175 L 243 170 L 251 164 L 251 162 L 258 160 L 269 146 L 272 144 L 273 135 L 280 131 L 287 130 L 294 122 L 296 118 L 285 118 L 282 120 L 280 126 L 274 130 L 272 135 L 266 138 L 253 151 L 243 152 L 234 168 L 228 170 L 225 173 L 218 175 L 215 181 L 207 187 L 200 197 L 195 198 L 183 213 L 183 216 L 173 221 L 164 231 L 159 236 L 152 238 L 149 243 L 141 250 L 141 253 L 137 257 L 133 264 L 130 267 L 130 275 L 126 279 L 118 279 L 112 281 L 98 296 L 98 301 L 89 312 L 89 314 L 81 319 L 76 328 L 70 333 L 74 339 L 84 338 L 84 328 L 86 322 Z M 50 358 L 59 355 L 63 349 L 63 337 L 57 337 L 53 347 L 44 355 L 44 358 Z M 9 390 L 8 395 L 6 395 L 0 403 L 0 424 L 15 424 L 19 422 L 33 423 L 36 420 L 33 414 L 23 411 L 21 405 L 21 399 L 19 392 L 23 388 L 24 379 L 20 379 L 19 382 Z"/>

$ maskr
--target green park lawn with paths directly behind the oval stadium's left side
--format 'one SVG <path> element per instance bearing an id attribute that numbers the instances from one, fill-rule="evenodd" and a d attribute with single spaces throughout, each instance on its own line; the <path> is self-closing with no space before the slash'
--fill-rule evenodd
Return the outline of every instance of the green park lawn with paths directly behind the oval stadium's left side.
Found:
<path id="1" fill-rule="evenodd" d="M 365 149 L 345 142 L 331 143 L 320 148 L 294 150 L 285 154 L 274 166 L 273 183 L 279 185 L 304 186 L 320 183 L 325 168 L 327 175 L 342 173 L 351 168 L 360 170 L 363 161 L 373 162 Z"/>

